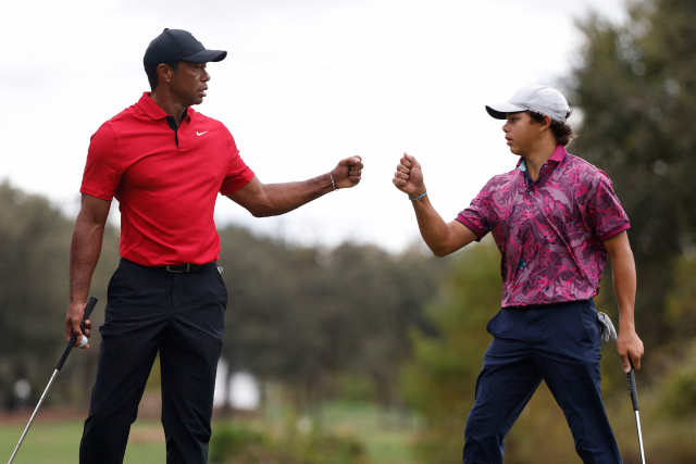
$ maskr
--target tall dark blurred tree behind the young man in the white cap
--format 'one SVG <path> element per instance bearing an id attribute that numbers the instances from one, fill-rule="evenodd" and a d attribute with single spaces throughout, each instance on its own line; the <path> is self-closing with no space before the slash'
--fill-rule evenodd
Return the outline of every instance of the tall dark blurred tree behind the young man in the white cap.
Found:
<path id="1" fill-rule="evenodd" d="M 637 330 L 650 353 L 675 333 L 666 317 L 673 262 L 696 240 L 696 2 L 629 3 L 629 21 L 582 21 L 569 80 L 582 111 L 572 152 L 607 172 L 631 218 Z"/>

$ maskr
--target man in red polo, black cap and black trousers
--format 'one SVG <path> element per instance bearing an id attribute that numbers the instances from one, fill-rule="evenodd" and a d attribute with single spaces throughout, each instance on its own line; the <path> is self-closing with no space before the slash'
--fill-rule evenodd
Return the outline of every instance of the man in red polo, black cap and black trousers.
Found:
<path id="1" fill-rule="evenodd" d="M 152 91 L 91 138 L 71 246 L 65 317 L 66 337 L 76 334 L 76 344 L 113 198 L 121 210 L 122 259 L 109 283 L 82 464 L 123 462 L 158 353 L 166 462 L 207 462 L 227 304 L 215 264 L 217 193 L 262 217 L 360 181 L 362 161 L 351 156 L 310 180 L 262 184 L 239 156 L 227 128 L 191 108 L 206 97 L 206 63 L 226 54 L 207 50 L 185 30 L 164 29 L 144 59 Z M 88 321 L 84 335 L 89 337 L 90 330 Z"/>

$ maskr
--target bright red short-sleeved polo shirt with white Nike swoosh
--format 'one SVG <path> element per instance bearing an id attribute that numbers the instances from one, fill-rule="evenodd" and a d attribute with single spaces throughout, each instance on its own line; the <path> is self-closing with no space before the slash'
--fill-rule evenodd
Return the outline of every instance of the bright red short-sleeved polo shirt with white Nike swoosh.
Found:
<path id="1" fill-rule="evenodd" d="M 175 133 L 149 93 L 91 137 L 80 192 L 121 211 L 121 256 L 146 266 L 204 264 L 220 256 L 217 193 L 253 173 L 229 130 L 188 108 Z"/>

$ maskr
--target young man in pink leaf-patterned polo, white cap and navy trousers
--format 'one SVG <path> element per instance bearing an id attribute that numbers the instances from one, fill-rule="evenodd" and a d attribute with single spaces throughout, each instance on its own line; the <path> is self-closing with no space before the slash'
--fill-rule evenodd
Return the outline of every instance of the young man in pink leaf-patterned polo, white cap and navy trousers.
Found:
<path id="1" fill-rule="evenodd" d="M 481 240 L 500 250 L 502 304 L 467 419 L 464 464 L 502 463 L 505 437 L 545 380 L 563 410 L 585 463 L 621 463 L 601 402 L 601 329 L 593 297 L 611 258 L 624 371 L 641 368 L 633 310 L 636 275 L 629 217 L 599 168 L 569 154 L 574 137 L 566 98 L 526 86 L 486 106 L 502 126 L 517 167 L 494 176 L 471 205 L 446 223 L 430 202 L 420 163 L 403 154 L 394 185 L 413 203 L 421 235 L 437 256 Z"/>

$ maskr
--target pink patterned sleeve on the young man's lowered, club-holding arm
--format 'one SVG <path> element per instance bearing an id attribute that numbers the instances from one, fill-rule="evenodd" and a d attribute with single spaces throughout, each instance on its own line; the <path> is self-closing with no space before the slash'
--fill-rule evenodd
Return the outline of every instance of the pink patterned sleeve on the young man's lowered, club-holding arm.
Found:
<path id="1" fill-rule="evenodd" d="M 629 216 L 613 191 L 611 180 L 604 172 L 600 171 L 593 179 L 587 195 L 585 214 L 599 240 L 608 240 L 631 227 Z"/>

